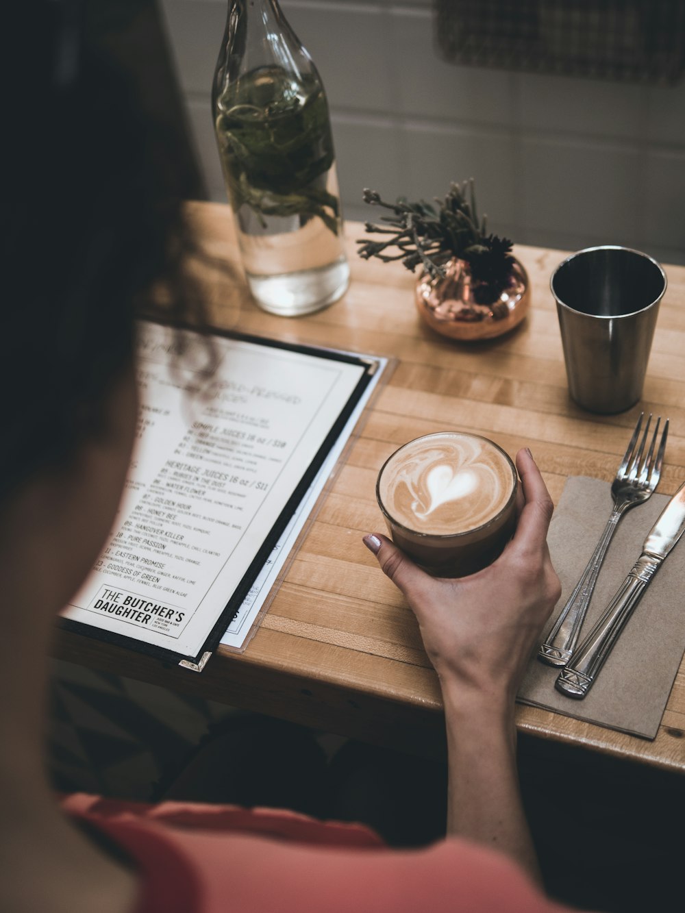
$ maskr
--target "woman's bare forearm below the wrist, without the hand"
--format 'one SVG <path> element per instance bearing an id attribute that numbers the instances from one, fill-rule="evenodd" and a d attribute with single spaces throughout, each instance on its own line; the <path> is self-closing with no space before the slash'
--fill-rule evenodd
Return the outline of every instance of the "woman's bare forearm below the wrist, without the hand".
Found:
<path id="1" fill-rule="evenodd" d="M 443 688 L 448 736 L 448 834 L 509 855 L 540 880 L 516 770 L 513 708 L 466 702 Z"/>

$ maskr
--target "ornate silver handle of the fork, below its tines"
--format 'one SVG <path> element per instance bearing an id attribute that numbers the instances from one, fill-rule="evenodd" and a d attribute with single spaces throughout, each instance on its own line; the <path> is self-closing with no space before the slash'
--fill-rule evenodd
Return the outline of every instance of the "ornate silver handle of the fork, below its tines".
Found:
<path id="1" fill-rule="evenodd" d="M 580 580 L 575 584 L 574 592 L 569 596 L 568 602 L 564 605 L 552 630 L 547 635 L 547 639 L 540 646 L 538 659 L 541 663 L 546 663 L 547 666 L 565 666 L 571 658 L 587 613 L 587 606 L 590 604 L 595 590 L 595 582 L 605 559 L 606 550 L 616 532 L 618 520 L 621 519 L 624 512 L 625 508 L 622 507 L 615 507 L 611 511 L 611 516 L 595 546 L 595 551 L 593 551 L 590 561 L 587 562 L 587 567 Z"/>

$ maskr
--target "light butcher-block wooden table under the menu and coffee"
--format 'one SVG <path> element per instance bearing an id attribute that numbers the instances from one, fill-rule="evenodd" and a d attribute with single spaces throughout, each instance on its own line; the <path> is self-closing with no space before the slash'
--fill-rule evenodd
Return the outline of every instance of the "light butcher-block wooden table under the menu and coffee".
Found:
<path id="1" fill-rule="evenodd" d="M 207 262 L 200 267 L 216 325 L 398 360 L 258 633 L 242 655 L 219 648 L 198 675 L 132 651 L 58 632 L 58 656 L 202 695 L 317 729 L 415 751 L 444 750 L 437 677 L 403 597 L 366 551 L 362 535 L 383 530 L 374 498 L 377 471 L 396 446 L 442 429 L 490 436 L 511 455 L 530 446 L 554 501 L 566 477 L 611 481 L 640 409 L 671 420 L 659 491 L 685 478 L 685 268 L 667 267 L 643 401 L 623 415 L 589 415 L 569 399 L 549 279 L 558 250 L 517 247 L 532 283 L 532 309 L 500 341 L 459 344 L 420 322 L 414 277 L 400 264 L 366 262 L 348 224 L 352 283 L 344 298 L 311 317 L 269 316 L 225 274 L 236 258 L 227 206 L 190 212 Z M 682 560 L 680 558 L 680 560 Z M 519 707 L 519 729 L 547 740 L 685 772 L 685 664 L 654 741 L 538 708 Z"/>

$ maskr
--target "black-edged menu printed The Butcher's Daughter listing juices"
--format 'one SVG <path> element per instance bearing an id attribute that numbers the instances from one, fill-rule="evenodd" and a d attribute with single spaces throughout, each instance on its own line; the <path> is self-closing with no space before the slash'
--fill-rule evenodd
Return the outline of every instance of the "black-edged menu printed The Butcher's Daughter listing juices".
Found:
<path id="1" fill-rule="evenodd" d="M 141 325 L 129 476 L 111 536 L 62 613 L 81 633 L 191 667 L 225 634 L 378 366 L 272 340 L 212 341 L 208 375 L 201 336 Z"/>

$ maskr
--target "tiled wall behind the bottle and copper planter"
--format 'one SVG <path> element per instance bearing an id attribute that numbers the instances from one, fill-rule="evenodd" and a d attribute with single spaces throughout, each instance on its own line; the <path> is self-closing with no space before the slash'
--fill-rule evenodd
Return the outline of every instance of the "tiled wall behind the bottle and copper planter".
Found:
<path id="1" fill-rule="evenodd" d="M 212 199 L 226 195 L 209 94 L 226 0 L 161 0 Z M 431 199 L 476 179 L 515 241 L 626 244 L 685 263 L 685 79 L 674 88 L 456 67 L 431 0 L 281 0 L 321 72 L 348 218 L 364 187 Z"/>

